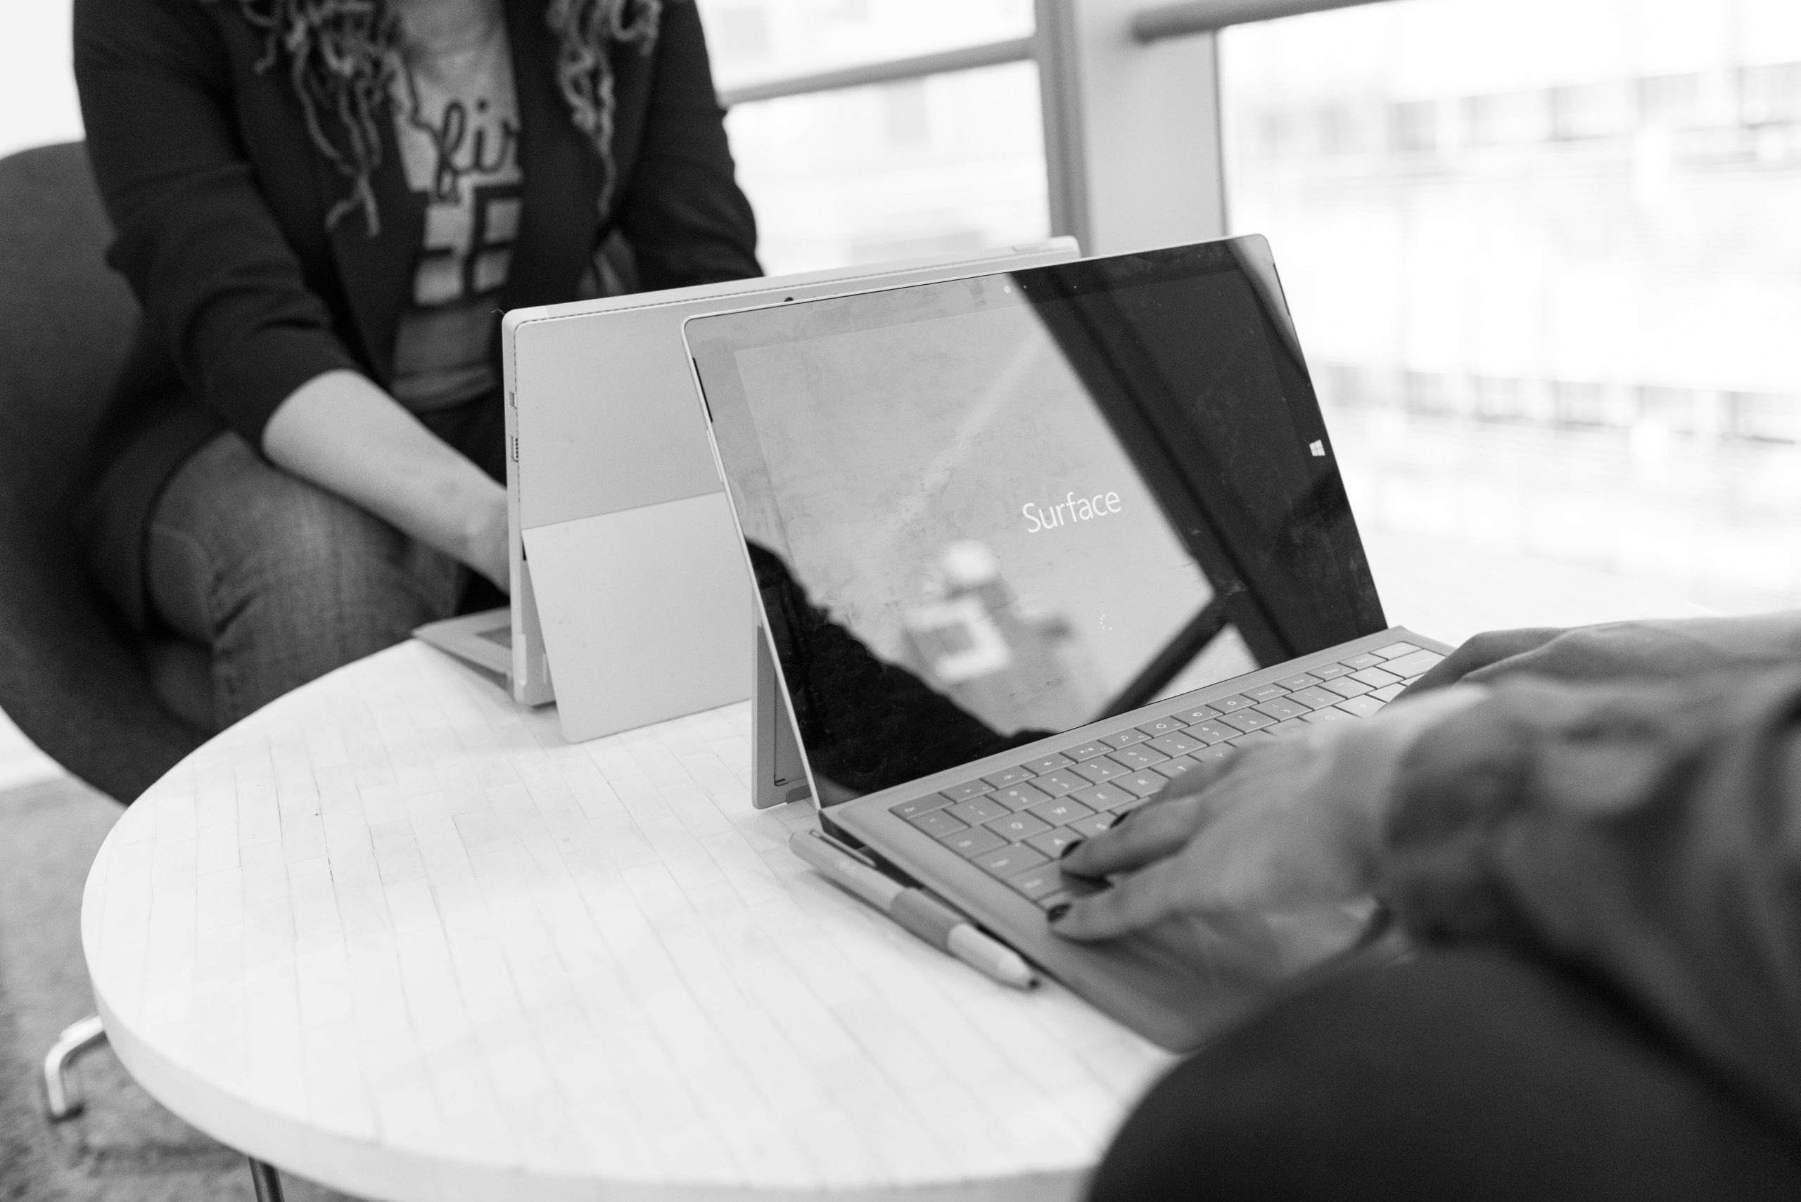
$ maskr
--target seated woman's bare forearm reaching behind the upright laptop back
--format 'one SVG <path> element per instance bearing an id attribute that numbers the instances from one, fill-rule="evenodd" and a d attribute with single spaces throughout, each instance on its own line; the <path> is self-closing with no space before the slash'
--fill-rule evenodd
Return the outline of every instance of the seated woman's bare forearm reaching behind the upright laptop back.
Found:
<path id="1" fill-rule="evenodd" d="M 330 371 L 295 389 L 263 453 L 508 587 L 506 489 L 366 376 Z"/>

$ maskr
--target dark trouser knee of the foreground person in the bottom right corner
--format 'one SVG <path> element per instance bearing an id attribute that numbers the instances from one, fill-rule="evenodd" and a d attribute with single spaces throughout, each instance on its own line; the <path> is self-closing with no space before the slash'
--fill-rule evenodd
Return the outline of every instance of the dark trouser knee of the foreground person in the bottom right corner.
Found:
<path id="1" fill-rule="evenodd" d="M 1138 1103 L 1090 1202 L 1194 1198 L 1801 1198 L 1801 1143 L 1592 982 L 1430 950 L 1273 1002 Z"/>

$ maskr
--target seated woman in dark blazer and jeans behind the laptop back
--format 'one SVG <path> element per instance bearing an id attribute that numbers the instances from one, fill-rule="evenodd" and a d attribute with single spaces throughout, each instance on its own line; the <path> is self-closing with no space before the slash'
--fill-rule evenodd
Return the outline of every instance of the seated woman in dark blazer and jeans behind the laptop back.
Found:
<path id="1" fill-rule="evenodd" d="M 77 0 L 76 79 L 142 304 L 79 527 L 214 729 L 508 588 L 504 309 L 758 274 L 690 0 Z"/>

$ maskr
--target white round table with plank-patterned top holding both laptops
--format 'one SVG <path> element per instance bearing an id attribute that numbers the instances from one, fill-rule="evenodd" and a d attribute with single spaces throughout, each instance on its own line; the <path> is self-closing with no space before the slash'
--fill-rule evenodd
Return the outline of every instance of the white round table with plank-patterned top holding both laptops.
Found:
<path id="1" fill-rule="evenodd" d="M 367 1198 L 1075 1197 L 1167 1056 L 805 869 L 747 723 L 569 745 L 418 642 L 274 702 L 94 862 L 119 1058 Z"/>

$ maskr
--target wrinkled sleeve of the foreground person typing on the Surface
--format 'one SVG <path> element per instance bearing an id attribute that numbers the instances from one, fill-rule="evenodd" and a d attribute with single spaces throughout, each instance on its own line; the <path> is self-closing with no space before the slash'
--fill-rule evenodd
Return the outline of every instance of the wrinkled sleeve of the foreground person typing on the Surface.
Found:
<path id="1" fill-rule="evenodd" d="M 1801 664 L 1502 680 L 1398 788 L 1389 896 L 1417 937 L 1599 981 L 1801 1134 Z"/>

